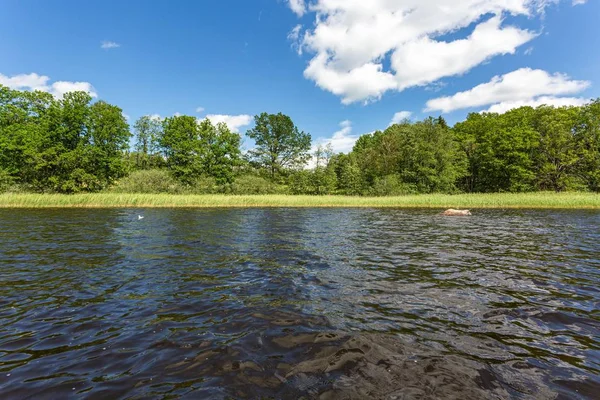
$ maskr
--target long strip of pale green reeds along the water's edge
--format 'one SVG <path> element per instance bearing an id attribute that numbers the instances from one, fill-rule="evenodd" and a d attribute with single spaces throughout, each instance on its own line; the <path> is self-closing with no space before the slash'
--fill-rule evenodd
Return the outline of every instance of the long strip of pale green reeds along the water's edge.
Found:
<path id="1" fill-rule="evenodd" d="M 600 209 L 594 193 L 431 194 L 398 197 L 169 194 L 0 194 L 0 208 L 396 207 Z"/>

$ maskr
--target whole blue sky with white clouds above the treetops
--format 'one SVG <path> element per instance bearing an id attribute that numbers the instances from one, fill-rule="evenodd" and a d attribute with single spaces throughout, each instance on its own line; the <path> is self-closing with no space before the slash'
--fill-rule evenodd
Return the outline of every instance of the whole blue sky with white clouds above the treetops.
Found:
<path id="1" fill-rule="evenodd" d="M 397 113 L 454 123 L 600 97 L 600 1 L 459 4 L 2 0 L 0 83 L 89 90 L 130 122 L 210 115 L 244 133 L 281 111 L 340 151 Z"/>

